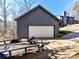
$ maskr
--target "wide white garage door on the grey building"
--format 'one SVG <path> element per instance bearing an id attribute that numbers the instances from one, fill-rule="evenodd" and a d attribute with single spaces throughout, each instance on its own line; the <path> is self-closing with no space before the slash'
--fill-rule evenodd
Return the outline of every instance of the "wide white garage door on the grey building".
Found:
<path id="1" fill-rule="evenodd" d="M 30 37 L 54 37 L 54 26 L 29 26 Z"/>

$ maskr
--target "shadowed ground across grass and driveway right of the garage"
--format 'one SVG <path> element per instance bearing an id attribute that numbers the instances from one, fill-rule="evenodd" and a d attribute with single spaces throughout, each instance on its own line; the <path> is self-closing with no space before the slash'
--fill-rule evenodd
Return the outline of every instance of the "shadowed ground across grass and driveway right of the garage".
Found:
<path id="1" fill-rule="evenodd" d="M 72 31 L 60 31 L 59 37 L 61 39 L 74 39 L 79 37 L 79 32 L 72 32 Z"/>

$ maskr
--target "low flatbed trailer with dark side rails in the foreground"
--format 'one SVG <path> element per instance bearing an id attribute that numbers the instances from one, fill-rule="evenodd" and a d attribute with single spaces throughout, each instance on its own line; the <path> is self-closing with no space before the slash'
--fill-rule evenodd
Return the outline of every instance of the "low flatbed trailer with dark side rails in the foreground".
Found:
<path id="1" fill-rule="evenodd" d="M 23 54 L 27 54 L 27 53 L 30 53 L 30 52 L 35 53 L 37 51 L 40 51 L 41 45 L 44 46 L 46 44 L 47 44 L 46 42 L 44 42 L 44 43 L 40 42 L 40 43 L 36 43 L 36 44 L 10 43 L 10 44 L 6 44 L 6 45 L 0 45 L 0 46 L 3 46 L 3 49 L 0 50 L 0 52 L 7 55 L 7 57 L 15 56 L 17 54 L 23 55 Z M 11 48 L 12 46 L 13 46 L 13 48 Z M 5 47 L 7 49 L 4 49 Z M 22 53 L 20 53 L 20 51 L 18 52 L 18 50 L 22 50 L 21 51 Z M 13 54 L 14 51 L 16 51 L 15 54 Z"/>

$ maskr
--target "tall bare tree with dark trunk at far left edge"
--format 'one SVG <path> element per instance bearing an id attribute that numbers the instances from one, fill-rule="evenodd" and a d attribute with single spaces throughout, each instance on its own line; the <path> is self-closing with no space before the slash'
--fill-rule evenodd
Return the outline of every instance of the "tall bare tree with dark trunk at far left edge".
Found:
<path id="1" fill-rule="evenodd" d="M 8 0 L 0 0 L 0 16 L 3 18 L 4 21 L 4 33 L 6 33 L 7 30 L 7 18 L 12 11 L 13 8 L 8 3 Z"/>

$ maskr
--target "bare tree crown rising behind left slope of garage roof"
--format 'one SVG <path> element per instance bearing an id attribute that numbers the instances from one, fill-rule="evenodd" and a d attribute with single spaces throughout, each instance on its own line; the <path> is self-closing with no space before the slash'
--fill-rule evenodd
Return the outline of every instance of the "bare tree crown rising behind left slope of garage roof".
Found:
<path id="1" fill-rule="evenodd" d="M 22 1 L 17 1 L 17 5 L 20 7 L 20 12 L 25 13 L 28 12 L 32 6 L 36 3 L 36 0 L 22 0 Z"/>

